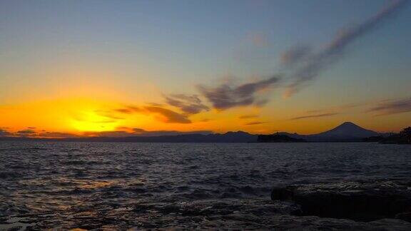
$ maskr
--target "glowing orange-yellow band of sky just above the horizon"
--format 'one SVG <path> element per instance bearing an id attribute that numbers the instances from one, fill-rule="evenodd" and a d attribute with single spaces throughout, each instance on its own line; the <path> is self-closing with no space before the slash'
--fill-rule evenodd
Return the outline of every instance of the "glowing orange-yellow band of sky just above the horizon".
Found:
<path id="1" fill-rule="evenodd" d="M 283 110 L 287 109 L 283 108 Z M 298 116 L 289 116 L 288 113 L 271 114 L 270 108 L 240 107 L 226 111 L 210 109 L 189 115 L 171 106 L 154 103 L 131 104 L 87 98 L 66 98 L 3 106 L 0 108 L 0 120 L 1 129 L 14 135 L 54 138 L 69 135 L 116 135 L 117 133 L 111 133 L 113 131 L 121 131 L 118 133 L 120 135 L 143 135 L 143 133 L 136 133 L 136 130 L 186 132 L 195 130 L 217 133 L 245 130 L 250 133 L 277 131 L 317 133 L 345 120 L 352 120 L 365 128 L 377 131 L 392 131 L 392 128 L 400 130 L 401 123 L 407 123 L 408 120 L 408 118 L 397 115 L 396 118 L 394 116 L 390 116 L 391 118 L 372 116 L 374 121 L 370 121 L 362 118 L 362 108 L 360 110 L 351 108 L 351 113 L 340 113 L 340 110 L 339 108 L 325 109 L 327 113 L 310 113 L 300 110 L 293 112 Z M 323 114 L 326 116 L 321 116 Z M 314 115 L 313 118 L 310 118 L 310 115 Z M 318 115 L 320 116 L 315 118 Z M 375 126 L 375 120 L 382 122 L 380 126 Z"/>

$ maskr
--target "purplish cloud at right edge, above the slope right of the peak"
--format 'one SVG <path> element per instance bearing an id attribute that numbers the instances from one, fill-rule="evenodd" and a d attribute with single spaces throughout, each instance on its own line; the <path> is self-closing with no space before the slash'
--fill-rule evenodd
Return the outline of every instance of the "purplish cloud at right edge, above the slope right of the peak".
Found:
<path id="1" fill-rule="evenodd" d="M 368 112 L 377 113 L 377 116 L 387 116 L 397 113 L 411 111 L 411 98 L 400 98 L 395 100 L 382 101 L 377 106 L 372 107 Z"/>

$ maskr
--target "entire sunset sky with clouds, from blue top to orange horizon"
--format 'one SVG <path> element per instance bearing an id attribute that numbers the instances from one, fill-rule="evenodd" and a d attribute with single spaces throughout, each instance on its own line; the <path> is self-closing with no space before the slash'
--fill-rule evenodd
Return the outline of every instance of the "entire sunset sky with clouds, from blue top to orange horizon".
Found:
<path id="1" fill-rule="evenodd" d="M 411 125 L 407 0 L 0 1 L 0 136 Z"/>

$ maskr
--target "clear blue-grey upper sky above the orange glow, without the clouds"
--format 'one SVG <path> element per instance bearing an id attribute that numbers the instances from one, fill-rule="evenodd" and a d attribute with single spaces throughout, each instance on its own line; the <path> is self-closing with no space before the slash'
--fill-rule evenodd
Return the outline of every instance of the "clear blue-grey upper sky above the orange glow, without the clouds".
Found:
<path id="1" fill-rule="evenodd" d="M 198 93 L 198 84 L 228 76 L 240 83 L 267 78 L 283 73 L 280 56 L 290 47 L 321 49 L 387 3 L 1 1 L 0 104 L 66 97 L 63 88 L 91 86 L 111 88 L 123 101 L 153 102 L 165 93 Z M 411 7 L 401 8 L 295 96 L 271 92 L 261 113 L 409 98 Z"/>

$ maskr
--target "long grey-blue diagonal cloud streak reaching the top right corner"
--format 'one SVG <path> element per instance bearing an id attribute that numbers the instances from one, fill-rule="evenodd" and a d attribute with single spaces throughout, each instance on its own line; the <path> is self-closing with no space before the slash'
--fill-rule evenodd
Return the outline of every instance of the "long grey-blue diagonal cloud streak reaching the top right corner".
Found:
<path id="1" fill-rule="evenodd" d="M 340 60 L 347 46 L 375 29 L 388 17 L 395 15 L 405 3 L 407 0 L 390 1 L 390 4 L 387 4 L 381 11 L 357 26 L 338 31 L 333 40 L 317 53 L 308 46 L 295 46 L 289 51 L 285 51 L 281 59 L 283 64 L 290 68 L 294 81 L 290 83 L 284 96 L 292 96 L 300 91 L 330 64 Z"/>

